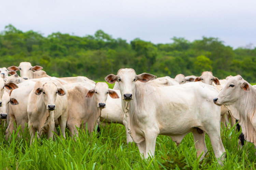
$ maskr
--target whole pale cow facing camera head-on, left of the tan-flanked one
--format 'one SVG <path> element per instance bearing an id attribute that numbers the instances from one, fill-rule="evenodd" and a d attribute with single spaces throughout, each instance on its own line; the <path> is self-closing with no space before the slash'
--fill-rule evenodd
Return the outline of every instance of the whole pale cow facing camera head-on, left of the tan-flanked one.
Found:
<path id="1" fill-rule="evenodd" d="M 28 98 L 28 126 L 32 143 L 35 132 L 53 137 L 55 121 L 58 119 L 61 133 L 64 138 L 68 116 L 67 90 L 57 81 L 42 83 L 37 81 Z"/>

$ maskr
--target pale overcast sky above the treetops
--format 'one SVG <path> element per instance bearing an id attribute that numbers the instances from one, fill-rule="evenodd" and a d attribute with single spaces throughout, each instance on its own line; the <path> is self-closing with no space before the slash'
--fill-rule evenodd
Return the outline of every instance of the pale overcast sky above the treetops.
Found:
<path id="1" fill-rule="evenodd" d="M 44 36 L 58 31 L 85 36 L 101 29 L 127 42 L 206 36 L 234 48 L 255 47 L 256 0 L 0 0 L 0 31 L 8 24 Z"/>

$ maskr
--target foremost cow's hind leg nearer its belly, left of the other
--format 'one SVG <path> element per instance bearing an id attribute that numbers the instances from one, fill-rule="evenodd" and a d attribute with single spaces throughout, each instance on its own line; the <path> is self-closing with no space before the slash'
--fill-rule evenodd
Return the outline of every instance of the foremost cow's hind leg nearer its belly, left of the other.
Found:
<path id="1" fill-rule="evenodd" d="M 207 153 L 207 147 L 205 145 L 205 132 L 203 132 L 201 129 L 198 130 L 198 128 L 194 128 L 192 133 L 194 136 L 195 148 L 197 150 L 197 157 L 203 152 L 202 156 L 200 157 L 200 160 L 202 160 L 204 155 Z"/>

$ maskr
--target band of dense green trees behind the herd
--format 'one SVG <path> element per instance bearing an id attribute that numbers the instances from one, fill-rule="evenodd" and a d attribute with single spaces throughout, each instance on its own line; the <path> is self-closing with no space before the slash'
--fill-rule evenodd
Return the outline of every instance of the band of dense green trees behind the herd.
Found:
<path id="1" fill-rule="evenodd" d="M 102 30 L 84 37 L 59 32 L 45 37 L 8 25 L 0 33 L 0 67 L 27 61 L 32 66 L 43 66 L 51 76 L 84 75 L 93 80 L 103 80 L 120 68 L 172 78 L 179 73 L 186 76 L 212 71 L 219 79 L 240 74 L 248 82 L 256 82 L 256 48 L 232 49 L 213 37 L 193 42 L 171 39 L 170 44 L 153 44 L 139 38 L 127 43 Z"/>

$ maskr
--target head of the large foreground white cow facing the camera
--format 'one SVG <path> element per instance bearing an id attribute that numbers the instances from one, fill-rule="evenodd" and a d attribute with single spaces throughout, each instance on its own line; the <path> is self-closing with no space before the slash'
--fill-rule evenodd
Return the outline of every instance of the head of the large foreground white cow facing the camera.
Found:
<path id="1" fill-rule="evenodd" d="M 146 83 L 153 78 L 155 78 L 155 76 L 152 74 L 142 73 L 136 75 L 136 72 L 132 68 L 125 68 L 120 69 L 117 75 L 109 74 L 105 77 L 105 80 L 111 84 L 118 81 L 122 99 L 130 101 L 133 99 L 135 82 L 139 80 L 140 82 Z"/>

